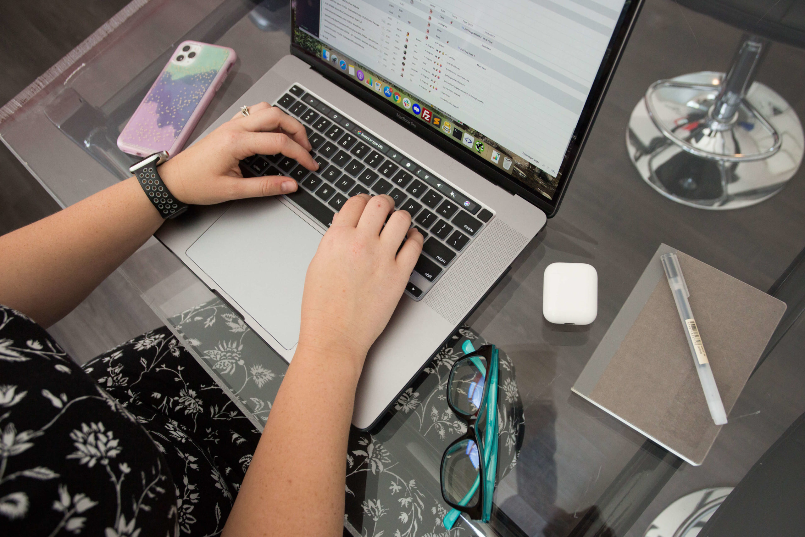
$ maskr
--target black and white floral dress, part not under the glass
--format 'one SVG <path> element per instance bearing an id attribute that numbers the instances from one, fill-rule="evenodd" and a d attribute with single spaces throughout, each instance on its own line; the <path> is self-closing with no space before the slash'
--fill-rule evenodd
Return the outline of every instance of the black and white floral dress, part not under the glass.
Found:
<path id="1" fill-rule="evenodd" d="M 167 328 L 82 368 L 0 306 L 0 535 L 217 535 L 259 436 Z"/>

